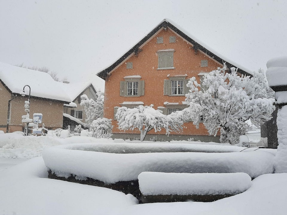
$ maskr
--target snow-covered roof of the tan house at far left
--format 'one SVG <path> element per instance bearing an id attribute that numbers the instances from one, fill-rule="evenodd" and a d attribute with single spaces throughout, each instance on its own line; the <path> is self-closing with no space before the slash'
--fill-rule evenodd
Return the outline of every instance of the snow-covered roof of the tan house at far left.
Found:
<path id="1" fill-rule="evenodd" d="M 48 73 L 12 66 L 0 62 L 0 80 L 12 92 L 19 94 L 25 85 L 35 97 L 71 102 L 71 98 Z M 25 93 L 29 94 L 28 87 Z"/>

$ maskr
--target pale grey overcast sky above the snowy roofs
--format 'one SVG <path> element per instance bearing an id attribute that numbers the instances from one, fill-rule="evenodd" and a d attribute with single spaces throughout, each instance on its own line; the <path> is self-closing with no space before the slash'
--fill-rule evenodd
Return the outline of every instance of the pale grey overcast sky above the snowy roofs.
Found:
<path id="1" fill-rule="evenodd" d="M 96 81 L 164 18 L 252 71 L 287 56 L 285 0 L 0 0 L 0 62 Z"/>

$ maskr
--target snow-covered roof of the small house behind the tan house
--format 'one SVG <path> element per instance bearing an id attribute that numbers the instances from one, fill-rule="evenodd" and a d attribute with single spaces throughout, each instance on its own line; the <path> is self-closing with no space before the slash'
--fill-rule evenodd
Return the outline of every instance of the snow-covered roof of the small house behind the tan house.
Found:
<path id="1" fill-rule="evenodd" d="M 97 93 L 94 85 L 91 82 L 58 82 L 58 85 L 69 95 L 71 101 L 74 101 L 79 95 L 82 95 L 89 87 L 91 87 L 94 92 Z"/>

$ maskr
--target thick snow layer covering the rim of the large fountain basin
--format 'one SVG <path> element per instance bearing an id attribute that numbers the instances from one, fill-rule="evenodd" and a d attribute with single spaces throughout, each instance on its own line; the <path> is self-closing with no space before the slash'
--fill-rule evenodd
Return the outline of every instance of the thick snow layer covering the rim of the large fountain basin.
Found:
<path id="1" fill-rule="evenodd" d="M 133 150 L 128 146 L 134 147 Z M 200 145 L 203 146 L 203 145 Z M 145 148 L 146 153 L 135 152 Z M 137 180 L 142 172 L 247 173 L 251 178 L 273 173 L 274 154 L 263 150 L 230 153 L 161 152 L 191 144 L 69 144 L 45 149 L 45 165 L 57 176 L 76 175 L 105 183 Z M 219 147 L 213 145 L 212 147 Z M 148 150 L 149 148 L 149 150 Z M 239 147 L 240 148 L 240 147 Z M 122 153 L 119 153 L 121 151 Z M 158 152 L 156 152 L 158 151 Z M 172 150 L 171 150 L 172 151 Z M 108 153 L 110 152 L 110 153 Z M 154 153 L 149 153 L 154 152 Z M 127 154 L 123 154 L 127 153 Z"/>

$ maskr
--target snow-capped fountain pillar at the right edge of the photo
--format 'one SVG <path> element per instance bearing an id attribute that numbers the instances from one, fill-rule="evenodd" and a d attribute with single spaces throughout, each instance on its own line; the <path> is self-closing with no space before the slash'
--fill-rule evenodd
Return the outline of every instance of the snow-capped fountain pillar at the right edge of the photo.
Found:
<path id="1" fill-rule="evenodd" d="M 275 173 L 287 173 L 287 57 L 268 60 L 266 77 L 275 91 L 277 115 L 278 148 L 275 156 Z"/>

